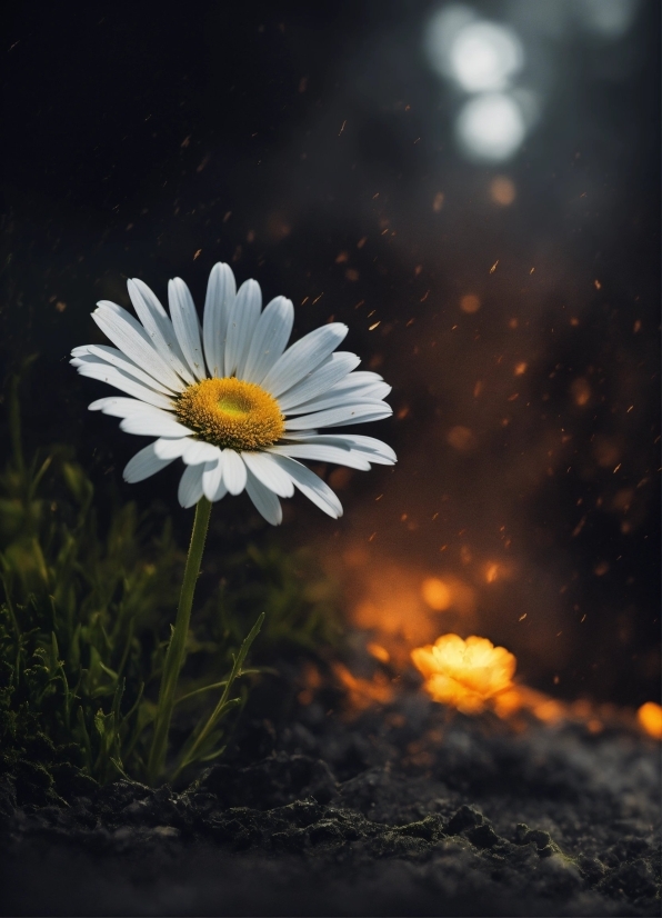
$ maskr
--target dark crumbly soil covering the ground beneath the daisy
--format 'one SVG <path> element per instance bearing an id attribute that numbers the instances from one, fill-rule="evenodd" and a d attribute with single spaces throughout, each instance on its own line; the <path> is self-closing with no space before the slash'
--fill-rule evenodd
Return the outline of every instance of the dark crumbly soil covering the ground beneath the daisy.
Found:
<path id="1" fill-rule="evenodd" d="M 659 747 L 622 727 L 515 731 L 403 691 L 253 724 L 248 748 L 179 794 L 37 807 L 6 779 L 2 914 L 660 912 Z"/>

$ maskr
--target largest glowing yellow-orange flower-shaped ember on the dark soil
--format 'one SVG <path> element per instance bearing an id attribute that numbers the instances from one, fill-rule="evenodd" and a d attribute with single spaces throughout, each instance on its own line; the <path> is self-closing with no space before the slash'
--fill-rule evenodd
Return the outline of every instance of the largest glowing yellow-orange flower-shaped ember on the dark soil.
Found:
<path id="1" fill-rule="evenodd" d="M 478 714 L 498 692 L 512 686 L 516 660 L 487 638 L 443 635 L 434 646 L 412 650 L 414 666 L 425 678 L 434 701 L 463 714 Z"/>

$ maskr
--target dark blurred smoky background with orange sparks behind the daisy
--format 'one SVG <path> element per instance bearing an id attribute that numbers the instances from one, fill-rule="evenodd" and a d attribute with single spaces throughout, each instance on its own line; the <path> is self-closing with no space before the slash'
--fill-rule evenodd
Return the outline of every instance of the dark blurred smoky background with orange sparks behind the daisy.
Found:
<path id="1" fill-rule="evenodd" d="M 318 468 L 345 513 L 285 502 L 380 647 L 455 631 L 559 698 L 660 682 L 660 4 L 339 0 L 4 8 L 3 372 L 31 446 L 174 515 L 180 470 L 87 411 L 126 279 L 199 305 L 215 261 L 291 298 L 298 337 L 393 386 L 361 432 L 399 463 Z M 3 437 L 3 443 L 7 437 Z M 267 528 L 245 496 L 214 546 Z"/>

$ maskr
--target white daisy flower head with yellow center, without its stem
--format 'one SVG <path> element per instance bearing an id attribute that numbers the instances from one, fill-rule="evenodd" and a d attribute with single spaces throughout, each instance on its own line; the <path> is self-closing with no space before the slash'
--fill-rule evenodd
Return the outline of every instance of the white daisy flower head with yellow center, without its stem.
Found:
<path id="1" fill-rule="evenodd" d="M 90 410 L 122 418 L 127 433 L 157 438 L 127 465 L 127 481 L 182 459 L 182 507 L 245 488 L 264 519 L 278 525 L 279 497 L 291 497 L 294 488 L 330 517 L 342 515 L 335 493 L 299 460 L 352 469 L 395 462 L 381 440 L 320 432 L 392 413 L 383 401 L 391 387 L 377 373 L 357 372 L 355 355 L 334 352 L 348 332 L 342 322 L 287 348 L 292 302 L 277 297 L 262 310 L 258 282 L 247 280 L 237 290 L 228 265 L 211 271 L 202 327 L 180 278 L 168 285 L 170 316 L 141 280 L 128 286 L 140 321 L 101 300 L 92 318 L 116 347 L 86 345 L 71 352 L 81 376 L 131 397 L 98 399 Z"/>

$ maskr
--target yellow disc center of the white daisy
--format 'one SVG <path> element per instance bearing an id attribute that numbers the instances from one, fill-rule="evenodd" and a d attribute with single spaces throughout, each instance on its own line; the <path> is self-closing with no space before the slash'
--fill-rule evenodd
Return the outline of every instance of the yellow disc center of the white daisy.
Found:
<path id="1" fill-rule="evenodd" d="M 254 382 L 234 377 L 203 379 L 177 400 L 178 419 L 202 440 L 237 450 L 259 450 L 282 437 L 278 401 Z"/>

